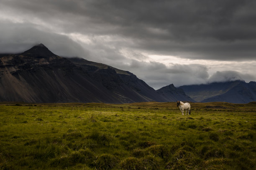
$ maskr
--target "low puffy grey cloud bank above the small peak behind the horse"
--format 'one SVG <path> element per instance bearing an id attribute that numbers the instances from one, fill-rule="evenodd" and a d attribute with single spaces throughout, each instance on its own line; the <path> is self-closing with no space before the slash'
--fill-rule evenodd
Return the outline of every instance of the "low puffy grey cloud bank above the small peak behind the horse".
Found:
<path id="1" fill-rule="evenodd" d="M 207 82 L 209 74 L 204 65 L 173 64 L 170 67 L 159 62 L 143 62 L 132 60 L 130 65 L 123 66 L 124 70 L 136 72 L 137 77 L 159 89 L 169 84 L 176 87 L 181 85 L 203 84 Z"/>

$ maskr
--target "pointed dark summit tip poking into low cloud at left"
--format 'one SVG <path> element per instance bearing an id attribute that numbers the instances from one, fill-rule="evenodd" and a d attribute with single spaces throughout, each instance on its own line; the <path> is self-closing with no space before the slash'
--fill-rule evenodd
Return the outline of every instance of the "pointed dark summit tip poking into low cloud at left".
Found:
<path id="1" fill-rule="evenodd" d="M 44 44 L 38 44 L 33 46 L 31 49 L 26 50 L 21 55 L 27 55 L 31 57 L 51 57 L 56 56 L 51 52 Z"/>

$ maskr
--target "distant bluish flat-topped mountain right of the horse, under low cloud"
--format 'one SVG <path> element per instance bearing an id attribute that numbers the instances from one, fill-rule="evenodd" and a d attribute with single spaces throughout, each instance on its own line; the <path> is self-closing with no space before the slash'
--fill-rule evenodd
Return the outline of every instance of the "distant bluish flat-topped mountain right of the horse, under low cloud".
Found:
<path id="1" fill-rule="evenodd" d="M 198 102 L 248 103 L 256 101 L 256 82 L 246 83 L 236 80 L 205 85 L 184 85 L 179 88 Z"/>

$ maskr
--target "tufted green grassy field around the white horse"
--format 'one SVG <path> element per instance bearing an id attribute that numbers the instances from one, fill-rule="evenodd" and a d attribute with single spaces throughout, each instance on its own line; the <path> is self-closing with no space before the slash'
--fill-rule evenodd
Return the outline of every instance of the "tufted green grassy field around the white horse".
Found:
<path id="1" fill-rule="evenodd" d="M 0 170 L 254 170 L 256 102 L 0 103 Z"/>

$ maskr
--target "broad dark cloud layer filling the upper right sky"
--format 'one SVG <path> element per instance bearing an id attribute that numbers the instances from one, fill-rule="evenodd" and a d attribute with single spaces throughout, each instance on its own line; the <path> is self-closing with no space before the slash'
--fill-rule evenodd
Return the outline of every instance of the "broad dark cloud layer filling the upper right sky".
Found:
<path id="1" fill-rule="evenodd" d="M 255 58 L 254 0 L 3 0 L 2 5 L 66 33 L 131 38 L 128 47 L 155 54 Z"/>

